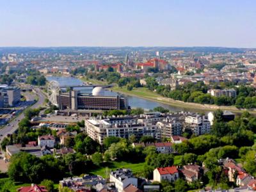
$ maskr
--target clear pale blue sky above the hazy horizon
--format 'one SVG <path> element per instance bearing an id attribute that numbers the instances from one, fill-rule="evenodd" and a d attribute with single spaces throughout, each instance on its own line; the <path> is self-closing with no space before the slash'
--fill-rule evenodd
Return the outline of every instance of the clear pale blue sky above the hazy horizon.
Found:
<path id="1" fill-rule="evenodd" d="M 0 47 L 256 47 L 255 0 L 0 0 Z"/>

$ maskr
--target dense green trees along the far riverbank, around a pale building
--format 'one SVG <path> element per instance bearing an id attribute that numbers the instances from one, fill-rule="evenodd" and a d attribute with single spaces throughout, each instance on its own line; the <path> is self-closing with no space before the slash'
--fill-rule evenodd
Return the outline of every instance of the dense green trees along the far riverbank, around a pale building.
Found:
<path id="1" fill-rule="evenodd" d="M 153 77 L 146 79 L 147 87 L 149 90 L 156 90 L 157 93 L 164 97 L 170 97 L 175 100 L 182 100 L 184 102 L 196 102 L 200 104 L 216 104 L 218 106 L 231 106 L 235 105 L 237 108 L 255 108 L 256 107 L 256 93 L 255 88 L 250 86 L 234 86 L 234 83 L 222 83 L 221 86 L 213 84 L 207 86 L 204 82 L 187 83 L 179 86 L 177 90 L 171 90 L 170 86 L 159 86 Z M 213 97 L 207 90 L 210 88 L 235 88 L 237 97 Z"/>

